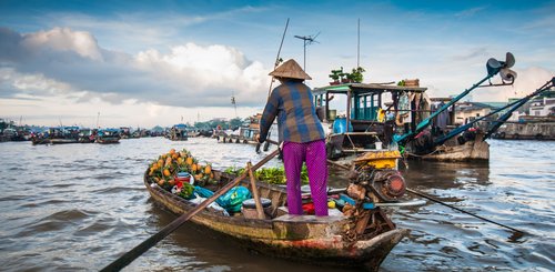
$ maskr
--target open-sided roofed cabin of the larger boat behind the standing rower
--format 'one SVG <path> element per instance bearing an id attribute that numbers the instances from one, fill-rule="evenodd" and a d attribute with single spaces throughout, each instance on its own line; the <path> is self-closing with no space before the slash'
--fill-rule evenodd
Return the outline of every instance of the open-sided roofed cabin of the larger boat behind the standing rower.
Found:
<path id="1" fill-rule="evenodd" d="M 326 132 L 329 159 L 390 149 L 396 124 L 403 124 L 402 118 L 394 118 L 395 114 L 404 120 L 414 115 L 410 108 L 404 110 L 401 104 L 406 100 L 404 97 L 425 91 L 426 88 L 418 85 L 379 83 L 315 88 L 314 104 Z M 414 118 L 412 120 L 414 122 Z"/>

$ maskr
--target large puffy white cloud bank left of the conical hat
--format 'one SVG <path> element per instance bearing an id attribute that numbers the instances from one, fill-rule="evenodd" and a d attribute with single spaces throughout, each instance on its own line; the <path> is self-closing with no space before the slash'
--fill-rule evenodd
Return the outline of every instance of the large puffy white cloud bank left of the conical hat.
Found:
<path id="1" fill-rule="evenodd" d="M 0 50 L 0 61 L 11 69 L 11 83 L 1 84 L 2 93 L 75 92 L 81 93 L 79 102 L 133 99 L 174 107 L 226 107 L 232 92 L 242 105 L 265 101 L 260 90 L 266 88 L 268 70 L 231 47 L 186 43 L 169 53 L 151 49 L 129 56 L 104 50 L 92 34 L 68 28 L 0 34 L 7 41 L 0 47 L 16 48 L 13 56 L 20 56 Z"/>

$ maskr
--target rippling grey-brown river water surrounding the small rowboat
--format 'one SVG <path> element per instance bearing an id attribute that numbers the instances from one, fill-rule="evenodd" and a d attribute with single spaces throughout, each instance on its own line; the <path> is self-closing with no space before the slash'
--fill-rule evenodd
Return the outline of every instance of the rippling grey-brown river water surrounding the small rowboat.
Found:
<path id="1" fill-rule="evenodd" d="M 396 209 L 393 221 L 412 232 L 382 271 L 555 270 L 555 142 L 490 143 L 487 163 L 410 162 L 403 173 L 412 189 L 527 234 L 517 238 L 433 202 Z M 94 271 L 158 232 L 176 216 L 150 199 L 142 174 L 171 148 L 186 148 L 214 169 L 264 157 L 252 145 L 202 138 L 0 143 L 0 270 Z M 331 183 L 344 185 L 340 178 Z M 344 271 L 254 254 L 192 223 L 125 270 Z"/>

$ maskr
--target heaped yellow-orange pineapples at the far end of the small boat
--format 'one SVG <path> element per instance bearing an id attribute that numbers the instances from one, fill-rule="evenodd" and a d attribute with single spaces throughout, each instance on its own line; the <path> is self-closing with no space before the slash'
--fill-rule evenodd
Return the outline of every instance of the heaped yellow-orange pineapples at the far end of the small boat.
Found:
<path id="1" fill-rule="evenodd" d="M 175 185 L 175 177 L 179 172 L 188 172 L 194 178 L 194 184 L 203 187 L 206 183 L 214 184 L 214 173 L 212 165 L 201 165 L 199 160 L 191 155 L 191 152 L 183 149 L 161 154 L 149 165 L 149 177 L 161 188 L 170 190 Z"/>

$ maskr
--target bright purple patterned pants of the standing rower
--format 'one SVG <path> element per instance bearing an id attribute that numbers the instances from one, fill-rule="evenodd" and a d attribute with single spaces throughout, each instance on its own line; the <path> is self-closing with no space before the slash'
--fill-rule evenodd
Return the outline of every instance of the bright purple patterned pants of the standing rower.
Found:
<path id="1" fill-rule="evenodd" d="M 327 215 L 327 162 L 325 141 L 305 143 L 284 142 L 283 164 L 287 178 L 289 214 L 303 214 L 301 199 L 301 170 L 306 163 L 314 212 L 319 216 Z"/>

